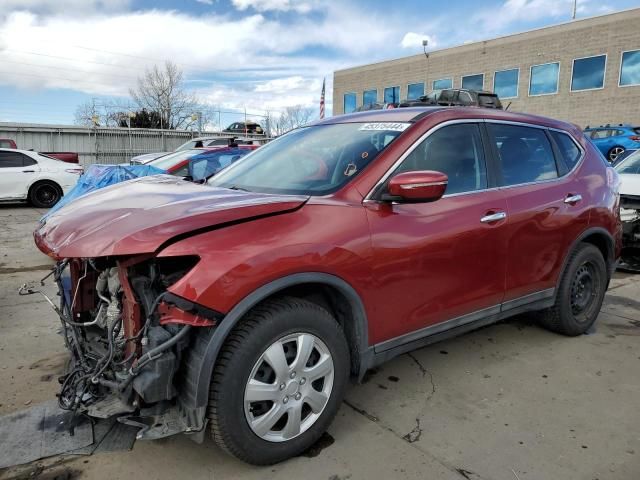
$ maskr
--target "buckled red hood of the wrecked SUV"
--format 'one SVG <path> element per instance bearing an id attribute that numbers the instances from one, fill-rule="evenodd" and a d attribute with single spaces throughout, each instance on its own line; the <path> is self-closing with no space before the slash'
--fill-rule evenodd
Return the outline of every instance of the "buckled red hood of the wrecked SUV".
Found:
<path id="1" fill-rule="evenodd" d="M 292 211 L 307 199 L 213 188 L 157 175 L 78 198 L 47 217 L 34 237 L 38 248 L 55 258 L 150 253 L 176 236 Z"/>

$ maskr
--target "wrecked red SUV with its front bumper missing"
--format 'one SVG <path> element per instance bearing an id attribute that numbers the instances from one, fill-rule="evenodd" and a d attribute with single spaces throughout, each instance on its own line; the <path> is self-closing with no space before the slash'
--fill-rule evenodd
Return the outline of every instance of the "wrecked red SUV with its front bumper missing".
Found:
<path id="1" fill-rule="evenodd" d="M 59 260 L 60 404 L 270 464 L 349 378 L 522 312 L 586 332 L 620 251 L 618 177 L 575 126 L 477 108 L 342 115 L 208 185 L 144 177 L 35 232 Z"/>

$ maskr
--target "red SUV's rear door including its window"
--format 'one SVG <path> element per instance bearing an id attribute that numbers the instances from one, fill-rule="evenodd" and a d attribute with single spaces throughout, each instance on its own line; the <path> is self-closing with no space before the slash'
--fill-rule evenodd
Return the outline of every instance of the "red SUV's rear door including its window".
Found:
<path id="1" fill-rule="evenodd" d="M 570 171 L 582 152 L 566 134 L 578 158 L 567 166 L 551 132 L 533 125 L 487 122 L 495 148 L 500 190 L 508 218 L 507 307 L 517 299 L 553 295 L 570 244 L 588 225 L 584 183 Z M 566 144 L 563 148 L 569 148 Z"/>

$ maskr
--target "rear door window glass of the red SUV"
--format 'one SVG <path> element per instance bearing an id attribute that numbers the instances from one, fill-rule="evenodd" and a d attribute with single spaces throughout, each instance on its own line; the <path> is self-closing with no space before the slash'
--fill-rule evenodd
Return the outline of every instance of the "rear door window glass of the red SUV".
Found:
<path id="1" fill-rule="evenodd" d="M 503 186 L 558 177 L 553 150 L 544 129 L 499 123 L 487 126 L 498 149 Z"/>

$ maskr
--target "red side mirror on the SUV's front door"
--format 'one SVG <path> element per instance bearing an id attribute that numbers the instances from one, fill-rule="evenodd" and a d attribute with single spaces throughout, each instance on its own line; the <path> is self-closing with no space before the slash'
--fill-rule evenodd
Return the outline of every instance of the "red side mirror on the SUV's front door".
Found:
<path id="1" fill-rule="evenodd" d="M 389 180 L 389 194 L 383 200 L 433 202 L 444 195 L 449 178 L 431 170 L 399 173 Z"/>

